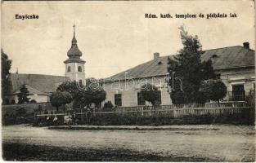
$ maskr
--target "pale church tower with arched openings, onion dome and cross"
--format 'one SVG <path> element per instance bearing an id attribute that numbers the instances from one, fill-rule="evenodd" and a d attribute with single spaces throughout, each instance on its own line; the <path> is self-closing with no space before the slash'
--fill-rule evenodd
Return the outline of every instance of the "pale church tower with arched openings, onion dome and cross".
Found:
<path id="1" fill-rule="evenodd" d="M 75 25 L 73 26 L 75 28 Z M 65 64 L 65 77 L 70 77 L 71 81 L 78 81 L 85 85 L 85 73 L 84 73 L 84 64 L 85 61 L 80 59 L 82 52 L 79 50 L 76 38 L 75 38 L 75 29 L 74 36 L 72 39 L 72 44 L 70 50 L 68 51 L 69 59 L 64 61 Z"/>

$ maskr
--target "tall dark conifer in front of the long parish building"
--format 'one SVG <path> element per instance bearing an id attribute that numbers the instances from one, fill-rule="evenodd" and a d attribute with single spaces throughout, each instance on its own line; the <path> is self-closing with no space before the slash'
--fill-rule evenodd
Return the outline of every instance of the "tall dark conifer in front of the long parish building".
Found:
<path id="1" fill-rule="evenodd" d="M 201 61 L 203 54 L 202 46 L 197 36 L 188 35 L 183 27 L 181 30 L 181 39 L 183 48 L 174 59 L 168 58 L 168 73 L 180 77 L 180 81 L 168 81 L 168 86 L 172 87 L 170 97 L 173 104 L 196 103 L 201 99 L 200 83 L 209 78 L 216 77 L 213 72 L 212 62 Z M 180 85 L 182 84 L 182 90 Z"/>

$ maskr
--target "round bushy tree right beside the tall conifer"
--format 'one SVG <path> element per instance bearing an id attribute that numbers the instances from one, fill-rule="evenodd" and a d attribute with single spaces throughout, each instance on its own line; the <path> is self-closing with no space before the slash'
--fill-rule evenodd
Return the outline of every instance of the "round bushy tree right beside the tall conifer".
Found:
<path id="1" fill-rule="evenodd" d="M 219 99 L 223 99 L 227 94 L 227 86 L 219 80 L 203 82 L 200 90 L 207 99 L 218 102 Z"/>

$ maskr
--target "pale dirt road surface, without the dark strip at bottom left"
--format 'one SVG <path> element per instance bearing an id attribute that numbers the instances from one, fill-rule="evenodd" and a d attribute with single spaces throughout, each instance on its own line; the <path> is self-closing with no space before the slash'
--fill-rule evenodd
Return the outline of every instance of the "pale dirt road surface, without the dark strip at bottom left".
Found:
<path id="1" fill-rule="evenodd" d="M 3 126 L 2 142 L 70 148 L 123 148 L 158 156 L 191 157 L 195 161 L 196 158 L 254 161 L 254 126 L 171 127 L 178 130 L 47 130 L 44 127 Z"/>

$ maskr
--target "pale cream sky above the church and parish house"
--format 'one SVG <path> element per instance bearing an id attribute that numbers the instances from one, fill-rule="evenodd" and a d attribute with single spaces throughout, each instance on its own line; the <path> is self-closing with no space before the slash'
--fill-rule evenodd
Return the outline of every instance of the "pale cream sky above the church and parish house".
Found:
<path id="1" fill-rule="evenodd" d="M 146 19 L 145 14 L 236 13 L 236 18 Z M 38 20 L 18 20 L 38 15 Z M 254 2 L 244 1 L 58 1 L 2 2 L 2 49 L 11 72 L 64 76 L 67 51 L 76 38 L 86 77 L 110 77 L 182 48 L 181 25 L 198 35 L 203 50 L 254 44 Z"/>

